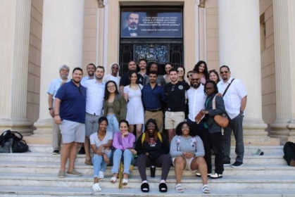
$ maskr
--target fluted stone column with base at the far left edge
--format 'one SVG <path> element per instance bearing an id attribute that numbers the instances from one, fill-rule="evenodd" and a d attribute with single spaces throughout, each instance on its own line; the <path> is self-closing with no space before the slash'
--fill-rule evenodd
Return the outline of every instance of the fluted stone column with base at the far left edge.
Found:
<path id="1" fill-rule="evenodd" d="M 0 1 L 0 133 L 32 132 L 26 118 L 30 12 L 30 0 Z"/>

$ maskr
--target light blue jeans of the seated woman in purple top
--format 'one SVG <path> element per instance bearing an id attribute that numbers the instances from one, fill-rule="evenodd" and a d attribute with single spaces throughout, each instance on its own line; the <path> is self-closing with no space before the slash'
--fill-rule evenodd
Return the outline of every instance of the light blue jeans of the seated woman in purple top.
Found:
<path id="1" fill-rule="evenodd" d="M 123 155 L 123 162 L 124 162 L 124 171 L 125 174 L 130 174 L 130 165 L 133 164 L 134 158 L 133 154 L 130 150 L 126 149 L 125 151 L 122 151 L 121 149 L 116 149 L 113 153 L 113 167 L 112 167 L 112 173 L 118 174 L 121 158 Z"/>

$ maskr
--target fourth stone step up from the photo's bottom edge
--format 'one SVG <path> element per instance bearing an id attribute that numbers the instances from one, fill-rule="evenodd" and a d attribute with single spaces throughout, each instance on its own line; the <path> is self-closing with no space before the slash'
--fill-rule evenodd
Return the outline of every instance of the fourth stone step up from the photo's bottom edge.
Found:
<path id="1" fill-rule="evenodd" d="M 13 156 L 12 156 L 13 155 Z M 232 163 L 236 156 L 232 155 Z M 214 163 L 214 155 L 212 161 Z M 19 161 L 19 162 L 60 162 L 61 155 L 52 155 L 51 153 L 0 153 L 0 160 Z M 85 155 L 77 155 L 76 163 L 84 163 Z M 244 155 L 244 163 L 247 164 L 286 164 L 282 154 L 265 154 L 265 155 Z"/>

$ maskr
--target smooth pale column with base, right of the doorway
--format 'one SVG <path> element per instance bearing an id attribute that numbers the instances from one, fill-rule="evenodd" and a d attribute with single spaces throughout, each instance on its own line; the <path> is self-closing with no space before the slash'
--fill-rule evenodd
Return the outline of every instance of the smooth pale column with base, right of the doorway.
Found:
<path id="1" fill-rule="evenodd" d="M 248 91 L 244 143 L 275 145 L 264 129 L 261 104 L 261 52 L 259 1 L 218 1 L 220 65 L 228 65 L 232 77 L 243 82 Z"/>

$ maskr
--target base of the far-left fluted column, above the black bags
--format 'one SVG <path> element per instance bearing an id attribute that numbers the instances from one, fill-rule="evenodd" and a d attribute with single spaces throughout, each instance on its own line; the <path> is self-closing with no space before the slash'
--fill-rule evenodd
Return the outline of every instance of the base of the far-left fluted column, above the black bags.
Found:
<path id="1" fill-rule="evenodd" d="M 11 117 L 0 119 L 0 133 L 6 130 L 20 132 L 23 136 L 32 134 L 32 122 L 25 117 Z"/>

